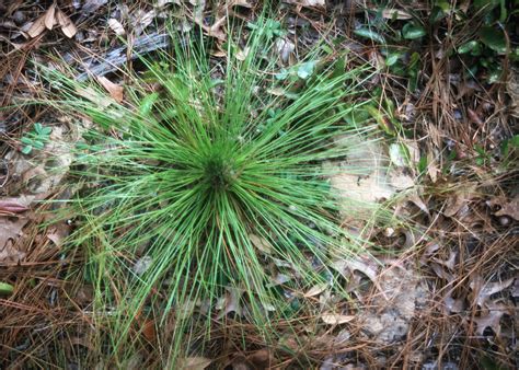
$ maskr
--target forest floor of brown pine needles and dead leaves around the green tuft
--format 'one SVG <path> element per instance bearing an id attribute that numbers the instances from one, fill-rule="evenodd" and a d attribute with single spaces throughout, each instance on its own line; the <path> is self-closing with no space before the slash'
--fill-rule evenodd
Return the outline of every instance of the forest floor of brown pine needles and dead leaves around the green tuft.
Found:
<path id="1" fill-rule="evenodd" d="M 304 356 L 323 370 L 517 369 L 517 1 L 378 3 L 285 0 L 270 14 L 280 71 L 320 42 L 331 56 L 347 50 L 377 71 L 379 113 L 371 119 L 383 140 L 359 157 L 380 152 L 392 170 L 382 185 L 356 178 L 357 196 L 387 201 L 411 224 L 369 230 L 371 242 L 394 253 L 378 265 L 359 256 L 344 266 L 361 314 L 344 323 L 334 317 Z M 118 68 L 136 53 L 164 47 L 165 19 L 222 46 L 228 18 L 253 21 L 262 9 L 254 0 L 0 3 L 0 368 L 93 368 L 80 359 L 97 350 L 81 329 L 92 325 L 91 287 L 62 275 L 60 247 L 73 224 L 48 226 L 53 215 L 42 212 L 41 200 L 53 198 L 65 176 L 53 167 L 73 161 L 61 143 L 74 134 L 69 117 L 19 103 L 44 94 L 35 62 L 58 56 L 77 68 L 79 80 L 104 77 L 116 99 L 125 82 Z M 224 57 L 220 51 L 215 58 Z M 39 143 L 38 137 L 46 138 Z M 343 189 L 350 186 L 345 181 Z M 319 302 L 326 291 L 302 293 Z M 161 327 L 143 333 L 148 345 L 128 369 L 155 367 Z M 250 348 L 237 351 L 227 334 L 219 354 L 189 358 L 186 368 L 301 367 L 301 355 L 286 349 L 290 338 L 274 348 L 251 337 Z M 100 359 L 96 368 L 103 367 Z"/>

